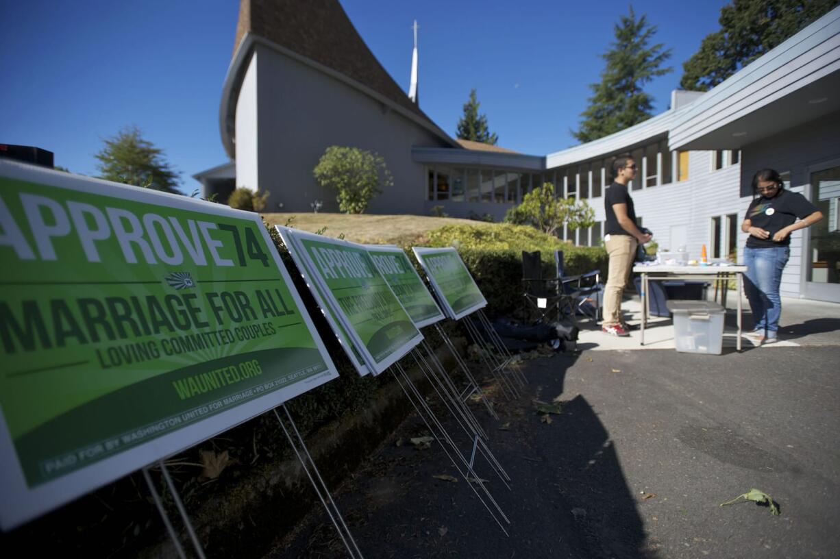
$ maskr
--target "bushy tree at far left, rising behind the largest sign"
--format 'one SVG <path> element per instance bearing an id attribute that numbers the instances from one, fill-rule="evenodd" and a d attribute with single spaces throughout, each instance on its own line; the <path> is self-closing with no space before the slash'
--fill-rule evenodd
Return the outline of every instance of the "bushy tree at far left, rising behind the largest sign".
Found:
<path id="1" fill-rule="evenodd" d="M 100 161 L 99 178 L 180 194 L 178 173 L 166 161 L 163 150 L 145 140 L 139 128 L 123 128 L 104 142 L 105 147 L 94 156 Z"/>

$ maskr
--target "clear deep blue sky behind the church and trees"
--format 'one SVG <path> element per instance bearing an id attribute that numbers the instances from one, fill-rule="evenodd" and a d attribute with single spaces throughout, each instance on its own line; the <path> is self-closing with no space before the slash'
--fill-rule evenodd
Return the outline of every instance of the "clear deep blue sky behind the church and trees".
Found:
<path id="1" fill-rule="evenodd" d="M 673 49 L 674 71 L 648 86 L 654 112 L 668 107 L 682 62 L 718 29 L 726 3 L 633 2 Z M 417 19 L 420 106 L 447 133 L 475 87 L 499 145 L 538 155 L 575 144 L 569 131 L 628 9 L 612 0 L 342 5 L 406 91 Z M 218 107 L 238 13 L 237 0 L 0 0 L 0 142 L 49 149 L 56 165 L 96 175 L 102 138 L 136 124 L 192 192 L 191 175 L 227 161 Z"/>

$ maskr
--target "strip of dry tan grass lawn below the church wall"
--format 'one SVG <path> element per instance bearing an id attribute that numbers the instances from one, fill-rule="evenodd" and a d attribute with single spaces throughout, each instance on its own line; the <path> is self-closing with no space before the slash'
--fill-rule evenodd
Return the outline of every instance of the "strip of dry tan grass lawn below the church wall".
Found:
<path id="1" fill-rule="evenodd" d="M 262 214 L 270 225 L 286 225 L 290 217 L 294 219 L 291 226 L 302 231 L 315 232 L 323 227 L 328 237 L 338 237 L 344 233 L 344 238 L 355 243 L 398 244 L 411 243 L 423 233 L 444 227 L 466 223 L 477 225 L 480 222 L 454 217 L 429 216 L 382 216 L 373 214 L 346 213 L 265 213 Z"/>

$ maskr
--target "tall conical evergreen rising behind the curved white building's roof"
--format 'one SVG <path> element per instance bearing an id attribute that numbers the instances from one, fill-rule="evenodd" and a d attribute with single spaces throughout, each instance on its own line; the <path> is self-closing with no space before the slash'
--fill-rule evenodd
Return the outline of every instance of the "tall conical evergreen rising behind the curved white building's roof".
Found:
<path id="1" fill-rule="evenodd" d="M 615 26 L 616 40 L 601 55 L 606 68 L 601 82 L 590 85 L 589 107 L 580 114 L 583 121 L 572 135 L 585 143 L 641 123 L 651 117 L 653 97 L 643 86 L 656 76 L 664 76 L 671 68 L 660 66 L 671 55 L 664 45 L 648 46 L 656 26 L 648 26 L 643 15 L 636 18 L 633 7 Z"/>

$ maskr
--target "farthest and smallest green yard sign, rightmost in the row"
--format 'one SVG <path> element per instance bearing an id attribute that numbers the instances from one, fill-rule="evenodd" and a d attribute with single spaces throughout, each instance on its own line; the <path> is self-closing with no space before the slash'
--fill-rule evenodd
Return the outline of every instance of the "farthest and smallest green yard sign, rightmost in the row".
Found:
<path id="1" fill-rule="evenodd" d="M 487 306 L 470 270 L 454 248 L 412 247 L 412 250 L 449 318 L 457 321 Z"/>

